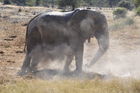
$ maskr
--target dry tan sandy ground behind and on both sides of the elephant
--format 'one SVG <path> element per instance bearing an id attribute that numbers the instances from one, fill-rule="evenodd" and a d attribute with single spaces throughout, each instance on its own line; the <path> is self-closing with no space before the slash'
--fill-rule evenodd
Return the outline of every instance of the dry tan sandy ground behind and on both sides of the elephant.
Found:
<path id="1" fill-rule="evenodd" d="M 21 9 L 21 12 L 19 12 L 19 9 Z M 23 53 L 25 24 L 33 16 L 44 11 L 51 11 L 51 9 L 0 5 L 0 78 L 20 78 L 16 73 L 20 70 L 25 56 Z M 87 68 L 85 65 L 91 61 L 98 49 L 98 45 L 95 39 L 92 39 L 91 43 L 85 43 L 84 76 L 93 78 L 94 72 L 98 73 L 97 76 L 101 75 L 105 78 L 114 76 L 140 78 L 140 17 L 130 14 L 134 24 L 121 25 L 119 22 L 123 23 L 124 19 L 113 20 L 112 10 L 100 11 L 106 15 L 109 29 L 116 25 L 119 28 L 110 30 L 110 48 L 91 68 Z M 52 64 L 51 68 L 62 69 L 63 67 L 57 63 L 57 66 Z M 74 63 L 71 68 L 74 68 Z M 49 71 L 52 70 L 48 70 L 47 73 Z M 59 73 L 56 70 L 53 70 L 53 72 L 52 76 Z"/>

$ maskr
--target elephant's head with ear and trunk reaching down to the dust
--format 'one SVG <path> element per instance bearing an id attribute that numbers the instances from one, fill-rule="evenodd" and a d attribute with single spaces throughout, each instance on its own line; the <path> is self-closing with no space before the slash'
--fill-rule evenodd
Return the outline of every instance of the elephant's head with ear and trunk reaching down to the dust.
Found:
<path id="1" fill-rule="evenodd" d="M 84 40 L 90 42 L 90 38 L 95 36 L 99 49 L 89 66 L 96 63 L 109 47 L 108 24 L 105 16 L 96 11 L 80 10 L 73 14 L 68 25 L 74 31 L 78 31 Z"/>

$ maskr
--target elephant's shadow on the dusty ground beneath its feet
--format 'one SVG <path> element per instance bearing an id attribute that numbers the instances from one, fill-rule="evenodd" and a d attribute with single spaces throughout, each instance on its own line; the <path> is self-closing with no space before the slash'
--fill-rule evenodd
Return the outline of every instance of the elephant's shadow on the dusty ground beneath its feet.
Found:
<path id="1" fill-rule="evenodd" d="M 94 79 L 100 78 L 104 79 L 106 76 L 94 72 L 81 72 L 76 74 L 74 71 L 64 74 L 62 70 L 59 69 L 43 69 L 32 74 L 33 76 L 43 79 L 43 80 L 53 80 L 53 79 Z"/>

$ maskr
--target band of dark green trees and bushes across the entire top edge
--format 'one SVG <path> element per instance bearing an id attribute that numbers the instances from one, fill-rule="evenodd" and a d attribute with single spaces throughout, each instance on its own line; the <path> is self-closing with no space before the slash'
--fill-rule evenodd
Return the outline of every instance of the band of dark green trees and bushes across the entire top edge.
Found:
<path id="1" fill-rule="evenodd" d="M 132 10 L 134 5 L 138 7 L 140 0 L 0 0 L 4 4 L 17 4 L 22 6 L 47 6 L 47 7 L 60 7 L 63 9 L 71 8 L 74 10 L 79 6 L 88 7 L 124 7 Z"/>

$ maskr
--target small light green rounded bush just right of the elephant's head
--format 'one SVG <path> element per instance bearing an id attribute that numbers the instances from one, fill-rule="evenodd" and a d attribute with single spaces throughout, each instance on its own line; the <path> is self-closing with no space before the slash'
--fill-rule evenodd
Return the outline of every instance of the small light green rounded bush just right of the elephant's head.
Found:
<path id="1" fill-rule="evenodd" d="M 115 18 L 124 18 L 126 17 L 127 14 L 127 10 L 126 8 L 117 8 L 113 11 L 113 15 L 115 16 Z"/>

